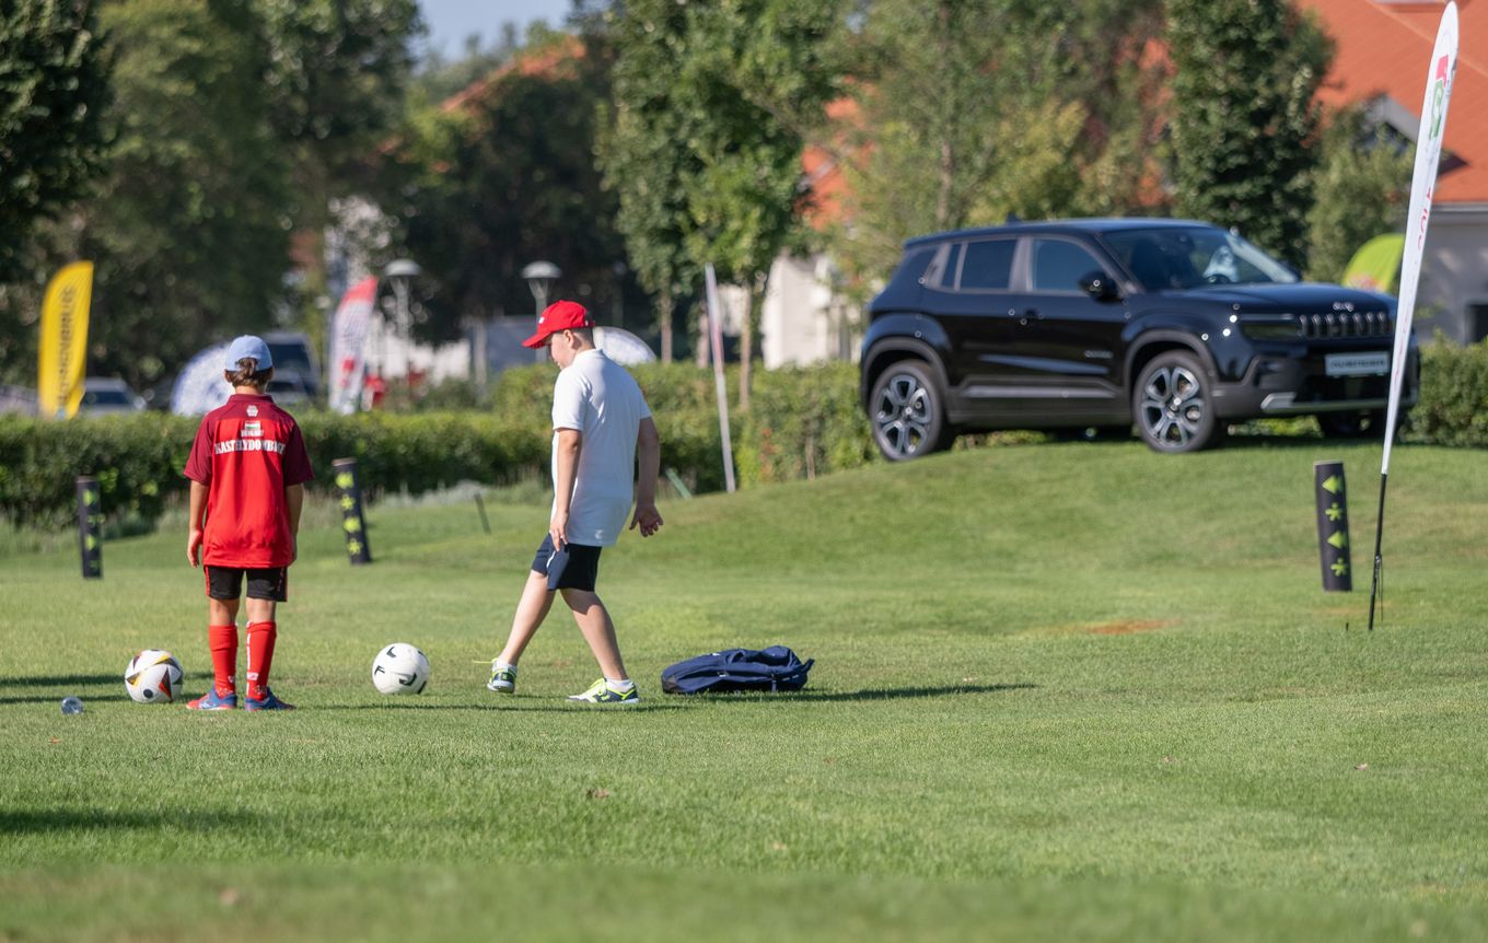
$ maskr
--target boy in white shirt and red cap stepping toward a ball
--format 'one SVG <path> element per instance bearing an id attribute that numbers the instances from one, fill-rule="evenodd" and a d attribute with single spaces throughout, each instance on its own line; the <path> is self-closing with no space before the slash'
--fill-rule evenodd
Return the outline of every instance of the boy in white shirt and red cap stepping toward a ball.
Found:
<path id="1" fill-rule="evenodd" d="M 640 692 L 625 672 L 615 623 L 594 583 L 600 550 L 619 540 L 632 498 L 631 530 L 650 537 L 662 525 L 656 512 L 661 437 L 635 379 L 595 348 L 592 329 L 583 305 L 559 300 L 543 311 L 537 333 L 522 342 L 546 347 L 562 367 L 554 384 L 554 507 L 487 687 L 516 690 L 516 662 L 552 608 L 554 593 L 561 592 L 604 674 L 570 701 L 628 705 L 640 702 Z M 640 479 L 632 480 L 637 455 Z"/>

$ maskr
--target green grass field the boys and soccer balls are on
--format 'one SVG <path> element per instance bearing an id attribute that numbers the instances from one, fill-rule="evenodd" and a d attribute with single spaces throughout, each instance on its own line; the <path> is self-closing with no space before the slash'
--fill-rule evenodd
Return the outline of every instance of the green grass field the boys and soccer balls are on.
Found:
<path id="1" fill-rule="evenodd" d="M 1323 593 L 1312 461 L 1344 458 L 1356 592 Z M 131 704 L 143 647 L 210 678 L 179 521 L 0 555 L 0 940 L 1402 940 L 1488 937 L 1488 454 L 1039 445 L 670 501 L 606 553 L 646 704 L 555 610 L 484 689 L 546 504 L 307 513 L 284 715 Z M 34 541 L 30 541 L 34 543 Z M 1351 626 L 1345 631 L 1345 622 Z M 433 681 L 369 665 L 421 646 Z M 719 647 L 801 695 L 679 699 Z M 86 712 L 64 717 L 76 693 Z"/>

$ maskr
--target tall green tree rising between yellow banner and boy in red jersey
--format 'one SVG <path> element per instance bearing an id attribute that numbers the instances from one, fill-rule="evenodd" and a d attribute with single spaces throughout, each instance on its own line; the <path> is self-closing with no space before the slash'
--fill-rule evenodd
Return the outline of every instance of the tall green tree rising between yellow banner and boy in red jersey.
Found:
<path id="1" fill-rule="evenodd" d="M 95 260 L 89 372 L 147 385 L 205 344 L 262 330 L 289 268 L 283 147 L 253 21 L 235 4 L 121 0 L 116 144 L 60 239 Z"/>

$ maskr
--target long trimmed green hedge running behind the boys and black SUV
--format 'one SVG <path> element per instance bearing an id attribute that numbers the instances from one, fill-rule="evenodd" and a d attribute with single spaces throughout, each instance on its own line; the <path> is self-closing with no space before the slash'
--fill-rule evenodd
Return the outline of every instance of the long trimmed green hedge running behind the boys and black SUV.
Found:
<path id="1" fill-rule="evenodd" d="M 635 367 L 656 413 L 662 467 L 696 491 L 723 488 L 713 373 L 690 364 Z M 554 369 L 501 375 L 482 412 L 307 412 L 299 418 L 315 467 L 312 488 L 330 488 L 330 463 L 356 458 L 363 489 L 421 494 L 461 480 L 500 485 L 546 474 Z M 731 372 L 731 399 L 738 388 Z M 829 474 L 876 461 L 857 402 L 857 366 L 762 370 L 751 409 L 731 415 L 741 485 Z M 1421 400 L 1412 442 L 1488 448 L 1488 342 L 1421 348 Z M 51 422 L 0 416 L 0 513 L 16 524 L 60 527 L 73 518 L 79 474 L 94 474 L 104 512 L 158 516 L 186 491 L 182 467 L 198 419 L 162 413 Z"/>

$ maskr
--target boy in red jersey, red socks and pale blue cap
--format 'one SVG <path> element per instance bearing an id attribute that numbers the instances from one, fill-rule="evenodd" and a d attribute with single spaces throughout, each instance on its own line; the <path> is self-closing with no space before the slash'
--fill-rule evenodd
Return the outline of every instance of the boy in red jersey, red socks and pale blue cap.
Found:
<path id="1" fill-rule="evenodd" d="M 304 482 L 314 477 L 295 418 L 263 393 L 274 375 L 268 345 L 251 335 L 232 342 L 223 376 L 232 396 L 196 430 L 186 477 L 190 521 L 186 559 L 207 576 L 207 640 L 211 690 L 193 711 L 238 707 L 238 601 L 248 582 L 248 711 L 289 711 L 269 690 L 274 604 L 289 598 L 289 565 L 298 553 Z M 205 519 L 205 527 L 202 521 Z"/>

